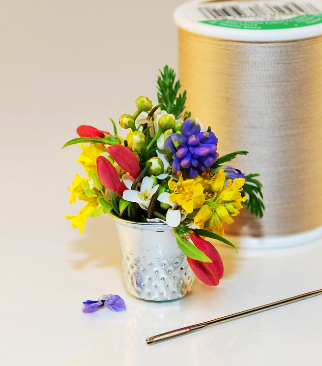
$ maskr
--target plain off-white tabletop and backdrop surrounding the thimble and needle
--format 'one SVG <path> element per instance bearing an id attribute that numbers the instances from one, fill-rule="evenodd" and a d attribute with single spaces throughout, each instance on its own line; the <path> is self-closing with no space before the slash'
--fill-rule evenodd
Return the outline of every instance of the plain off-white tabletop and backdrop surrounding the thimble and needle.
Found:
<path id="1" fill-rule="evenodd" d="M 2 2 L 0 364 L 319 365 L 322 296 L 154 346 L 145 338 L 322 287 L 322 241 L 282 251 L 218 246 L 216 288 L 154 303 L 125 291 L 114 223 L 64 215 L 82 124 L 156 102 L 157 71 L 177 68 L 179 0 Z M 127 310 L 83 314 L 82 301 L 118 294 Z"/>

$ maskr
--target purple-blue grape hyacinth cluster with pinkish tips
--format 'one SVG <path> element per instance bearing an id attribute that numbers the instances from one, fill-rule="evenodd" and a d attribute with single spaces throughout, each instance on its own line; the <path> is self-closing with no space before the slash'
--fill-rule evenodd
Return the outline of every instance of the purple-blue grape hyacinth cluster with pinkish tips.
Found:
<path id="1" fill-rule="evenodd" d="M 207 171 L 218 159 L 218 139 L 212 131 L 200 132 L 201 127 L 194 118 L 187 118 L 182 124 L 181 134 L 168 134 L 164 150 L 173 157 L 172 171 L 185 169 L 189 179 L 198 172 Z"/>

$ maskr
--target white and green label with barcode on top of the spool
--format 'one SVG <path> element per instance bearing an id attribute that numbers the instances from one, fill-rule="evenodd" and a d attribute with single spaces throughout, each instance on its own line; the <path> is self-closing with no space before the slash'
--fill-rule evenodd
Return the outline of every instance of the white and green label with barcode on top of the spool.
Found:
<path id="1" fill-rule="evenodd" d="M 320 0 L 225 1 L 199 6 L 201 23 L 240 29 L 284 29 L 322 23 Z"/>

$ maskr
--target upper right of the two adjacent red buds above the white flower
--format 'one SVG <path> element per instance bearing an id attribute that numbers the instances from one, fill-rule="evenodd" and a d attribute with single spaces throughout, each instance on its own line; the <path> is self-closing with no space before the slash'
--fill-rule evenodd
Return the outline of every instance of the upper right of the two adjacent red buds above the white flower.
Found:
<path id="1" fill-rule="evenodd" d="M 132 178 L 136 179 L 141 172 L 139 162 L 130 149 L 123 145 L 108 146 L 109 155 L 120 165 L 122 169 L 127 171 Z"/>

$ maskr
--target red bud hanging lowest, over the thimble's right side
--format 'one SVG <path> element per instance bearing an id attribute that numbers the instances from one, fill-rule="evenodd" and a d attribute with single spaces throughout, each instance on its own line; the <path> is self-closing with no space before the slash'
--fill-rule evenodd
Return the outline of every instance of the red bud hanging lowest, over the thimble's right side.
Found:
<path id="1" fill-rule="evenodd" d="M 187 257 L 188 263 L 200 281 L 209 286 L 219 285 L 224 274 L 224 265 L 215 247 L 207 240 L 202 239 L 194 231 L 190 235 L 194 245 L 207 255 L 213 262 L 201 262 Z"/>

